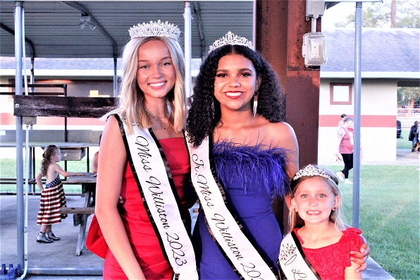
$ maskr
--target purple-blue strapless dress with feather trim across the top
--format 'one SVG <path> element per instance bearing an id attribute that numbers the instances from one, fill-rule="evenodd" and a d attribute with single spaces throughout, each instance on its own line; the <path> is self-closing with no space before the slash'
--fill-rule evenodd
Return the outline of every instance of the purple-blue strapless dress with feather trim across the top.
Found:
<path id="1" fill-rule="evenodd" d="M 272 197 L 283 197 L 289 181 L 285 173 L 288 153 L 283 148 L 261 150 L 261 146 L 239 146 L 216 142 L 213 146 L 218 180 L 222 182 L 228 201 L 234 205 L 245 231 L 254 239 L 257 249 L 276 267 L 282 233 L 271 209 Z M 209 234 L 202 209 L 199 211 L 194 239 L 201 251 L 200 280 L 239 279 Z M 197 256 L 199 257 L 199 256 Z"/>

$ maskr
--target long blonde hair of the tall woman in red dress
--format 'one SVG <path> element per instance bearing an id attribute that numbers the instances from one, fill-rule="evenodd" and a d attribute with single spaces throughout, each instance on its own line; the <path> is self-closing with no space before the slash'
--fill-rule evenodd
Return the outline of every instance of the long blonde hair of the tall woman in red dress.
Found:
<path id="1" fill-rule="evenodd" d="M 127 125 L 128 134 L 132 133 L 132 123 L 137 123 L 141 128 L 152 127 L 149 115 L 144 111 L 144 94 L 137 85 L 137 51 L 145 42 L 160 40 L 166 44 L 173 66 L 175 68 L 175 85 L 173 90 L 168 92 L 167 103 L 169 106 L 169 121 L 176 132 L 185 128 L 187 109 L 185 105 L 185 62 L 183 50 L 175 39 L 168 37 L 137 37 L 131 39 L 123 49 L 122 83 L 120 87 L 119 101 L 117 108 L 113 109 L 102 119 L 108 118 L 111 114 L 118 114 L 121 120 Z"/>

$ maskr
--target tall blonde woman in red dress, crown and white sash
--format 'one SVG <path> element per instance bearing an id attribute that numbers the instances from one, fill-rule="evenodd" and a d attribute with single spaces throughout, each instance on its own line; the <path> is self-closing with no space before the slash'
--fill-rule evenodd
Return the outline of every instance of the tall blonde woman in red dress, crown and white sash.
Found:
<path id="1" fill-rule="evenodd" d="M 104 116 L 100 144 L 95 215 L 109 246 L 104 279 L 197 279 L 179 34 L 160 20 L 130 28 L 120 104 Z"/>

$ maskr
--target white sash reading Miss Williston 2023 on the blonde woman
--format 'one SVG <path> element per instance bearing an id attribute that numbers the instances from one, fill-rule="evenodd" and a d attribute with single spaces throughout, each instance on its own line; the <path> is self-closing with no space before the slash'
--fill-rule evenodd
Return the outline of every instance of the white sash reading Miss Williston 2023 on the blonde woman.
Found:
<path id="1" fill-rule="evenodd" d="M 174 279 L 198 280 L 194 249 L 183 224 L 173 193 L 176 190 L 169 183 L 159 147 L 149 130 L 135 125 L 132 129 L 134 133 L 126 135 L 126 145 L 130 149 L 128 158 L 132 159 L 135 168 L 133 174 L 137 183 L 140 183 L 145 206 L 152 214 L 152 224 L 155 231 L 159 231 L 156 235 L 163 245 L 162 251 L 175 272 Z"/>

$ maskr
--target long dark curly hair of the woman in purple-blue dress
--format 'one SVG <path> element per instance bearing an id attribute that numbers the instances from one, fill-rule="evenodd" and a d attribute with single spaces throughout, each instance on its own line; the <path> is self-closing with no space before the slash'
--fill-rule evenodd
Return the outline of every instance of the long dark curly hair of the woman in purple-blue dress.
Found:
<path id="1" fill-rule="evenodd" d="M 211 51 L 200 66 L 197 75 L 191 108 L 187 117 L 187 132 L 194 147 L 202 143 L 206 136 L 212 135 L 221 119 L 220 103 L 214 97 L 214 79 L 218 61 L 229 54 L 240 54 L 252 61 L 257 75 L 261 76 L 258 90 L 257 113 L 272 123 L 285 121 L 285 95 L 278 76 L 270 64 L 257 51 L 245 46 L 226 45 Z M 251 108 L 254 100 L 251 100 Z"/>

